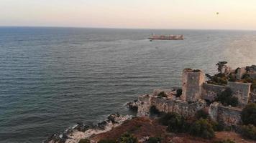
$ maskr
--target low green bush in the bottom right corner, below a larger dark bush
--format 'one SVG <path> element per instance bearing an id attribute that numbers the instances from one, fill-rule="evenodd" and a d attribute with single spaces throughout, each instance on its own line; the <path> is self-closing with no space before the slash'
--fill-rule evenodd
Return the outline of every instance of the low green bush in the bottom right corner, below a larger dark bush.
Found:
<path id="1" fill-rule="evenodd" d="M 256 140 L 256 127 L 252 124 L 242 126 L 242 136 Z"/>

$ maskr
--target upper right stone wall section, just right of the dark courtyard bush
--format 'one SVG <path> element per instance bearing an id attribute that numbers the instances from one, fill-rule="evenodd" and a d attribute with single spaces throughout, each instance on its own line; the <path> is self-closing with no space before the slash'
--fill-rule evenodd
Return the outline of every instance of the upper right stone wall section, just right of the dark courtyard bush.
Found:
<path id="1" fill-rule="evenodd" d="M 227 87 L 232 89 L 233 96 L 238 98 L 240 106 L 245 106 L 248 104 L 251 87 L 250 83 L 228 82 Z"/>

